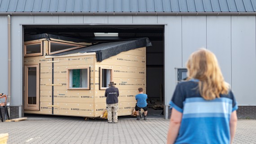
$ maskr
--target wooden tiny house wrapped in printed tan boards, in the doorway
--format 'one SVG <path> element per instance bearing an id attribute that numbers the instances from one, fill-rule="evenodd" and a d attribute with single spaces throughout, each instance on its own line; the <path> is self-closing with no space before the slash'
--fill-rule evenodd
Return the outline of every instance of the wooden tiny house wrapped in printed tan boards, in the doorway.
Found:
<path id="1" fill-rule="evenodd" d="M 118 114 L 132 114 L 137 89 L 146 92 L 148 38 L 93 45 L 55 38 L 24 42 L 25 113 L 99 117 L 114 81 Z"/>

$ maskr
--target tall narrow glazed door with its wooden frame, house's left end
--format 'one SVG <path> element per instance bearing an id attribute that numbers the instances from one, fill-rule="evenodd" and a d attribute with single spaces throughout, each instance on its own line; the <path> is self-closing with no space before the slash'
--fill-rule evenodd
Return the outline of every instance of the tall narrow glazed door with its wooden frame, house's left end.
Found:
<path id="1" fill-rule="evenodd" d="M 39 65 L 25 65 L 25 110 L 39 110 Z"/>

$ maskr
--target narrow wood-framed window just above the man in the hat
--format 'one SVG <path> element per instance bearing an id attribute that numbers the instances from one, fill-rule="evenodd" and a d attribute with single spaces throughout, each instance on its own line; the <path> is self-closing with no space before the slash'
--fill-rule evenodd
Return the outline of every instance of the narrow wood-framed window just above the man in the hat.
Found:
<path id="1" fill-rule="evenodd" d="M 112 69 L 100 68 L 100 89 L 107 89 L 110 81 L 112 81 Z"/>

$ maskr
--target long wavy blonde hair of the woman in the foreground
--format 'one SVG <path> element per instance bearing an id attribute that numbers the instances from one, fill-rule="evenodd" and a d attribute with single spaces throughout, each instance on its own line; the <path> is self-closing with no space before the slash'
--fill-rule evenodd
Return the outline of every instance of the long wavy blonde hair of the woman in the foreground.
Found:
<path id="1" fill-rule="evenodd" d="M 193 52 L 187 61 L 188 79 L 199 80 L 199 93 L 205 100 L 227 94 L 230 86 L 224 81 L 216 56 L 204 48 Z"/>

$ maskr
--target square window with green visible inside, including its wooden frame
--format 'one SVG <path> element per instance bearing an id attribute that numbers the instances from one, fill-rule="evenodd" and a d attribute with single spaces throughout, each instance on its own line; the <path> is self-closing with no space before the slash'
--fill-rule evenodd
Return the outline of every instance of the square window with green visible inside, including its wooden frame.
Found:
<path id="1" fill-rule="evenodd" d="M 67 72 L 67 89 L 90 89 L 89 68 L 71 68 Z"/>

